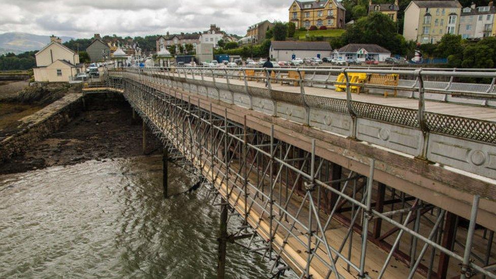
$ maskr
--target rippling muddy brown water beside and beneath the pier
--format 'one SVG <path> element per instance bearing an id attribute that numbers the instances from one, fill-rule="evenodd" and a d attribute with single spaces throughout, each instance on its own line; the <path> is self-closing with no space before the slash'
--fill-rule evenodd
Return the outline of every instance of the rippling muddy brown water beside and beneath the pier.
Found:
<path id="1" fill-rule="evenodd" d="M 122 156 L 125 150 L 115 151 L 126 147 L 114 141 L 120 136 L 98 147 L 98 159 L 88 154 L 70 160 L 78 147 L 87 151 L 84 144 L 108 137 L 102 123 L 118 115 L 115 110 L 83 113 L 47 139 L 73 138 L 74 144 L 46 153 L 58 154 L 61 163 L 33 169 L 19 165 L 20 171 L 10 168 L 0 175 L 0 278 L 215 277 L 219 208 L 212 205 L 211 192 L 202 187 L 164 199 L 161 156 L 134 151 Z M 79 138 L 71 132 L 88 130 L 85 125 L 94 130 Z M 139 125 L 121 127 L 129 129 L 122 134 L 135 135 L 127 139 L 129 145 L 140 142 Z M 43 146 L 30 152 L 39 153 Z M 170 166 L 170 193 L 187 190 L 192 183 L 188 176 Z M 231 230 L 240 225 L 236 218 L 229 224 Z M 234 244 L 227 251 L 228 278 L 269 277 L 271 263 L 261 256 Z"/>

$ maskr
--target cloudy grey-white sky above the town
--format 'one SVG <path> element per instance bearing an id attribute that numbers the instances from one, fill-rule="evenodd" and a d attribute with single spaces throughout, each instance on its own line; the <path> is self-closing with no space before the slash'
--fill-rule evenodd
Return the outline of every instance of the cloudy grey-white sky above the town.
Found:
<path id="1" fill-rule="evenodd" d="M 287 21 L 292 0 L 0 0 L 0 33 L 91 37 L 196 32 L 215 23 L 244 35 L 261 20 Z"/>

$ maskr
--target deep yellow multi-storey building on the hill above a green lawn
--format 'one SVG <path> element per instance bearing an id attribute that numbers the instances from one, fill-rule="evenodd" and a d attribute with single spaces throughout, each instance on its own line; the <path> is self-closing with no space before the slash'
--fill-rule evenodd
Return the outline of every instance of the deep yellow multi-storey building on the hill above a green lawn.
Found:
<path id="1" fill-rule="evenodd" d="M 317 28 L 343 28 L 345 13 L 345 7 L 335 0 L 294 1 L 289 8 L 289 20 L 295 23 L 297 29 L 309 29 L 313 25 Z"/>

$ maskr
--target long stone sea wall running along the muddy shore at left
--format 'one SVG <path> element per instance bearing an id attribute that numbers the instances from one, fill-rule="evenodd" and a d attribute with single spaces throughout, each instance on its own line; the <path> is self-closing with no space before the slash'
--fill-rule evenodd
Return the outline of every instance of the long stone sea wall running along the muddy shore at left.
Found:
<path id="1" fill-rule="evenodd" d="M 0 163 L 70 122 L 83 109 L 83 94 L 67 94 L 45 108 L 21 118 L 15 132 L 0 137 Z"/>

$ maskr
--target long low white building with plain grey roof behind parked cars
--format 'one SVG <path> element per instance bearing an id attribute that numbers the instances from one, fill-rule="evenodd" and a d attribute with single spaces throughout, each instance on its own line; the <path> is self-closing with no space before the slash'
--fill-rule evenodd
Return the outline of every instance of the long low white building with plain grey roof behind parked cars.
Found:
<path id="1" fill-rule="evenodd" d="M 269 55 L 277 61 L 290 61 L 296 57 L 329 57 L 331 51 L 328 42 L 272 41 Z"/>

